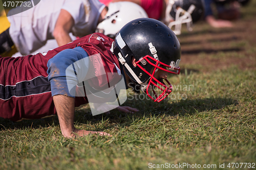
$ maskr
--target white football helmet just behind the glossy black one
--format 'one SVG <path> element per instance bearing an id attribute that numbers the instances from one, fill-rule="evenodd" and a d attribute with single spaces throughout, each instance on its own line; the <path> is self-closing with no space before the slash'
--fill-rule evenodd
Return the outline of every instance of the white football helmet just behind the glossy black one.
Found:
<path id="1" fill-rule="evenodd" d="M 137 18 L 148 18 L 145 10 L 132 2 L 116 2 L 109 4 L 105 19 L 100 22 L 95 32 L 115 38 L 119 30 L 128 22 Z"/>

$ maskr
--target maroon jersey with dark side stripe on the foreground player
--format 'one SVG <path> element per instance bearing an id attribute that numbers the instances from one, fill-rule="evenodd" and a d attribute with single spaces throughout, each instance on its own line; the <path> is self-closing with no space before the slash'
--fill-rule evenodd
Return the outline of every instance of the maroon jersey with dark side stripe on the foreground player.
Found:
<path id="1" fill-rule="evenodd" d="M 55 48 L 47 54 L 24 57 L 0 57 L 0 117 L 17 121 L 23 118 L 35 119 L 56 114 L 48 81 L 47 63 L 57 53 L 80 46 L 90 57 L 89 69 L 97 69 L 93 55 L 100 54 L 108 78 L 94 78 L 88 83 L 98 89 L 108 86 L 117 78 L 118 59 L 110 51 L 113 40 L 103 34 L 91 34 L 71 43 Z M 87 97 L 76 97 L 75 107 L 87 104 Z"/>

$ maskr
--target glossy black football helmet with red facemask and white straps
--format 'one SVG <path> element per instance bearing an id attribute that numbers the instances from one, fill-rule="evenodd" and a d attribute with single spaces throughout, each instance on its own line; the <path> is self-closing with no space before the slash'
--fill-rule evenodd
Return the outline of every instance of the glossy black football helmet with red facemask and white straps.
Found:
<path id="1" fill-rule="evenodd" d="M 173 87 L 168 80 L 165 79 L 165 84 L 154 77 L 158 69 L 176 75 L 180 73 L 180 42 L 164 23 L 152 18 L 139 18 L 127 23 L 118 32 L 112 51 L 131 80 L 138 83 L 140 90 L 155 102 L 160 102 L 172 92 Z M 133 57 L 136 66 L 132 63 Z M 160 94 L 150 86 L 157 87 Z"/>

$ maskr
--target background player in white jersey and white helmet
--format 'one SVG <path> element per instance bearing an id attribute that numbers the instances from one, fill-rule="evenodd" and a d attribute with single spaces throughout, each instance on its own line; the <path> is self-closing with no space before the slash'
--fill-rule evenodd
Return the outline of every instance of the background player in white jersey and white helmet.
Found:
<path id="1" fill-rule="evenodd" d="M 130 6 L 134 8 L 133 5 Z M 76 3 L 71 0 L 45 0 L 29 10 L 17 13 L 20 8 L 22 7 L 8 12 L 9 22 L 6 17 L 3 19 L 6 26 L 0 32 L 2 56 L 12 56 L 17 51 L 21 55 L 47 52 L 76 38 L 94 33 L 99 23 L 106 22 L 113 15 L 108 13 L 108 10 L 122 14 L 122 23 L 118 22 L 114 26 L 116 32 L 112 34 L 116 34 L 125 23 L 133 19 L 147 17 L 143 15 L 144 11 L 141 15 L 126 15 L 127 11 L 117 9 L 116 6 L 109 9 L 98 0 L 76 0 Z M 103 28 L 110 27 L 108 24 L 110 22 L 104 24 Z M 55 39 L 55 43 L 47 44 L 51 39 Z M 38 51 L 40 47 L 45 47 L 44 51 Z"/>

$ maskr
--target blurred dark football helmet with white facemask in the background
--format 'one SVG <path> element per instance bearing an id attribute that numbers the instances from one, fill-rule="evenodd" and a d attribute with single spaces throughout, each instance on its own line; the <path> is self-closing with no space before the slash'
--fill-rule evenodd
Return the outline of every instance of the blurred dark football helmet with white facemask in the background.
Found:
<path id="1" fill-rule="evenodd" d="M 165 22 L 175 34 L 181 34 L 181 25 L 186 23 L 187 30 L 192 31 L 192 24 L 204 16 L 204 0 L 168 0 L 165 11 Z"/>

